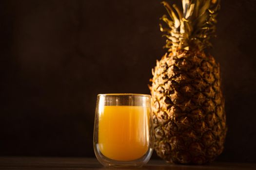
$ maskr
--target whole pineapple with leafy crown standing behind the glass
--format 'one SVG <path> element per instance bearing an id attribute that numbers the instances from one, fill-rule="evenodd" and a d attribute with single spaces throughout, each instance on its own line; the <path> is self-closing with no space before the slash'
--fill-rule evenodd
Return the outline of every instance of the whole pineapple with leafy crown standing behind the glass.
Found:
<path id="1" fill-rule="evenodd" d="M 222 151 L 227 132 L 219 64 L 204 50 L 215 36 L 219 0 L 163 1 L 165 48 L 150 81 L 155 151 L 171 163 L 204 164 Z"/>

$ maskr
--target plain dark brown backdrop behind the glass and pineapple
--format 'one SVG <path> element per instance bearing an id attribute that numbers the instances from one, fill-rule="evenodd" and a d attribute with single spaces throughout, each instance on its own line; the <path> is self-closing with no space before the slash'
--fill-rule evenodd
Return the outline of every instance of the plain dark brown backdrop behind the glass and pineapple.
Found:
<path id="1" fill-rule="evenodd" d="M 149 93 L 160 0 L 0 0 L 0 155 L 94 156 L 98 93 Z M 256 162 L 256 0 L 223 0 L 210 50 L 229 131 L 218 160 Z M 154 155 L 156 156 L 156 155 Z"/>

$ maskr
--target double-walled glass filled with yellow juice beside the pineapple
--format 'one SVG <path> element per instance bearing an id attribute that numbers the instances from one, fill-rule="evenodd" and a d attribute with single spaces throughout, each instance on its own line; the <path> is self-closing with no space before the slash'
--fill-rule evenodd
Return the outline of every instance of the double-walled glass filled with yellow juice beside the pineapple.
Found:
<path id="1" fill-rule="evenodd" d="M 108 167 L 140 167 L 153 152 L 150 95 L 99 94 L 94 124 L 94 152 Z"/>

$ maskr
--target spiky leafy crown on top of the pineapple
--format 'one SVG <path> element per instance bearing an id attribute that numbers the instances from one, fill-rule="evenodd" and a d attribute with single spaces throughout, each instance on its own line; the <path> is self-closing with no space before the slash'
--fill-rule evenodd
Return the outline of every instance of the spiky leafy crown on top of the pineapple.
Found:
<path id="1" fill-rule="evenodd" d="M 211 47 L 210 38 L 215 36 L 217 12 L 220 0 L 182 0 L 183 11 L 176 4 L 172 6 L 166 1 L 161 3 L 166 8 L 169 17 L 163 15 L 160 19 L 167 24 L 160 31 L 164 34 L 168 51 L 203 50 Z"/>

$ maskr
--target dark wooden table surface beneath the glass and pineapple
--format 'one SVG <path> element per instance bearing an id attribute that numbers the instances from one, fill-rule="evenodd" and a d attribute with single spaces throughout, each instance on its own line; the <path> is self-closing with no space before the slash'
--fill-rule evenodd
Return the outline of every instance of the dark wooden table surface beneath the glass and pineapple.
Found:
<path id="1" fill-rule="evenodd" d="M 95 158 L 67 157 L 0 157 L 0 170 L 115 170 L 105 168 Z M 256 170 L 256 164 L 214 162 L 209 165 L 175 165 L 161 160 L 150 160 L 142 168 L 123 170 Z"/>

